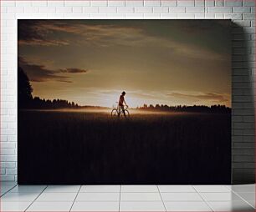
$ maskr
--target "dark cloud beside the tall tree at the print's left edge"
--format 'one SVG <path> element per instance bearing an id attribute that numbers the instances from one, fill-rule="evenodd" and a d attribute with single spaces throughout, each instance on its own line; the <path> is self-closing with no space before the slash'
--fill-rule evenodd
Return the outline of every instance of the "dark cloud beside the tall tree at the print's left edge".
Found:
<path id="1" fill-rule="evenodd" d="M 41 64 L 28 63 L 23 57 L 18 57 L 18 66 L 23 68 L 24 72 L 28 74 L 28 78 L 32 82 L 46 82 L 49 80 L 72 83 L 69 79 L 70 75 L 67 73 L 87 73 L 88 70 L 83 68 L 60 68 L 50 69 Z"/>

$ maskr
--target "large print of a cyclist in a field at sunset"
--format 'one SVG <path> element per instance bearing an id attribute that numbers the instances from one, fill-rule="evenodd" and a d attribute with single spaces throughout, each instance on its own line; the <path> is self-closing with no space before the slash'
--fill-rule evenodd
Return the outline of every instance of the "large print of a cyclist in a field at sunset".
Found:
<path id="1" fill-rule="evenodd" d="M 19 184 L 229 184 L 228 20 L 18 20 Z"/>

